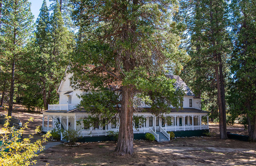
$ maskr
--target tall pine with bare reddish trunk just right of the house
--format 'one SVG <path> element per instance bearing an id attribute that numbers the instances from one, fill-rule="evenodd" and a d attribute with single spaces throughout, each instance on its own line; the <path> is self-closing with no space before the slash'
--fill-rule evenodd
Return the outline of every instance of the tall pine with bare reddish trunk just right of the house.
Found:
<path id="1" fill-rule="evenodd" d="M 186 77 L 192 72 L 193 79 L 196 80 L 194 87 L 198 85 L 195 87 L 197 94 L 201 94 L 200 89 L 210 92 L 208 94 L 213 94 L 212 96 L 217 93 L 215 103 L 218 103 L 220 138 L 227 139 L 225 69 L 231 47 L 228 33 L 228 5 L 225 0 L 185 1 L 184 4 L 183 13 L 188 18 L 192 16 L 187 19 L 187 31 L 191 35 L 188 50 L 192 62 L 189 64 L 190 67 L 185 68 L 183 76 Z M 189 6 L 193 6 L 192 10 Z"/>

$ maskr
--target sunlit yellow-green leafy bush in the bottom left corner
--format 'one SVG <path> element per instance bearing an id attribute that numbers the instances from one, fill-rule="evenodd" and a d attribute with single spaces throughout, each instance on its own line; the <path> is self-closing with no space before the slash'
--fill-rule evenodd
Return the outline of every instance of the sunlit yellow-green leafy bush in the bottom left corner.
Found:
<path id="1" fill-rule="evenodd" d="M 42 143 L 46 142 L 47 138 L 50 138 L 50 132 L 44 134 L 42 140 L 36 140 L 36 142 L 31 143 L 30 140 L 33 138 L 33 135 L 40 130 L 38 126 L 35 133 L 21 140 L 21 135 L 28 128 L 28 123 L 33 122 L 33 118 L 30 118 L 19 130 L 8 127 L 11 117 L 6 118 L 7 120 L 2 128 L 4 133 L 0 135 L 0 165 L 27 166 L 36 164 L 36 160 L 31 159 L 37 156 L 35 154 L 37 151 L 41 152 L 44 149 Z"/>

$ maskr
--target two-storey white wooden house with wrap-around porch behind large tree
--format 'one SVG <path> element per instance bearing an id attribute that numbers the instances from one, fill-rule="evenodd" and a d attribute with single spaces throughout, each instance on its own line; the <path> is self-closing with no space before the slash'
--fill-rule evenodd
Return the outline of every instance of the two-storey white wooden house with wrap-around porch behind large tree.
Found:
<path id="1" fill-rule="evenodd" d="M 77 108 L 80 103 L 79 95 L 84 92 L 75 90 L 71 86 L 70 77 L 72 74 L 65 73 L 57 93 L 60 94 L 59 104 L 49 104 L 48 110 L 43 111 L 43 131 L 49 131 L 54 128 L 62 127 L 64 129 L 79 130 L 80 136 L 84 140 L 98 141 L 106 140 L 108 131 L 118 131 L 119 123 L 117 119 L 116 124 L 109 123 L 106 126 L 88 127 L 83 123 L 77 124 L 76 121 L 88 117 L 88 113 L 83 108 Z M 201 98 L 196 97 L 185 82 L 176 75 L 167 75 L 170 79 L 176 79 L 176 87 L 182 87 L 185 91 L 183 99 L 183 109 L 172 109 L 171 113 L 163 113 L 160 117 L 147 112 L 134 112 L 133 115 L 144 116 L 146 121 L 140 126 L 133 124 L 134 138 L 143 138 L 145 133 L 150 132 L 154 134 L 157 141 L 170 140 L 168 131 L 173 131 L 176 136 L 201 136 L 205 130 L 209 131 L 207 112 L 201 110 Z M 139 107 L 147 108 L 145 104 Z M 170 107 L 172 107 L 170 105 Z M 161 117 L 171 117 L 171 124 L 162 122 Z M 207 117 L 207 123 L 202 123 L 202 117 Z M 104 137 L 105 136 L 105 137 Z M 84 142 L 85 142 L 84 141 Z"/>

